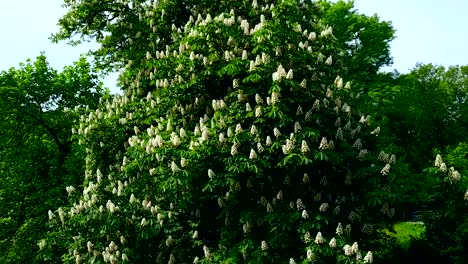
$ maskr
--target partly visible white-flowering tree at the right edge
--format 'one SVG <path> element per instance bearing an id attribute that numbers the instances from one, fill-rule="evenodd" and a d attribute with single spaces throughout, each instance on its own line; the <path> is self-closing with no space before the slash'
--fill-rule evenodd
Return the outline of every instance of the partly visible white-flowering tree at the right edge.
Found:
<path id="1" fill-rule="evenodd" d="M 437 155 L 435 166 L 425 170 L 427 176 L 436 179 L 430 190 L 430 211 L 423 216 L 426 237 L 431 251 L 438 253 L 431 255 L 447 263 L 468 260 L 468 181 L 466 173 L 451 166 L 466 168 L 466 151 L 466 143 L 460 144 L 448 155 L 448 160 L 454 163 L 446 164 L 441 155 Z"/>

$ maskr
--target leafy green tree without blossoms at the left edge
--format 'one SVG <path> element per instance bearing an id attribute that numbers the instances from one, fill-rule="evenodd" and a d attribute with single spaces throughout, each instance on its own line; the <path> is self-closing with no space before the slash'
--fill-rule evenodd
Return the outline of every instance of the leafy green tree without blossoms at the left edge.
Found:
<path id="1" fill-rule="evenodd" d="M 102 94 L 90 67 L 81 58 L 58 73 L 41 54 L 0 73 L 2 263 L 36 263 L 48 209 L 64 205 L 65 186 L 80 181 L 84 152 L 70 140 L 79 113 L 72 109 L 96 107 Z"/>

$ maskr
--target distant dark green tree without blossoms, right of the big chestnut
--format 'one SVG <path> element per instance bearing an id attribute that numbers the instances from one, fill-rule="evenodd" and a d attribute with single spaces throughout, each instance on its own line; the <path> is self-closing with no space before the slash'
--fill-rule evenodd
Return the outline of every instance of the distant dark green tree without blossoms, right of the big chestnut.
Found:
<path id="1" fill-rule="evenodd" d="M 421 210 L 430 199 L 436 178 L 423 170 L 432 163 L 434 150 L 465 141 L 465 72 L 465 66 L 418 64 L 409 74 L 382 76 L 368 94 L 373 102 L 368 111 L 376 113 L 382 126 L 383 144 L 402 157 L 400 166 L 406 164 L 396 180 L 408 213 Z"/>

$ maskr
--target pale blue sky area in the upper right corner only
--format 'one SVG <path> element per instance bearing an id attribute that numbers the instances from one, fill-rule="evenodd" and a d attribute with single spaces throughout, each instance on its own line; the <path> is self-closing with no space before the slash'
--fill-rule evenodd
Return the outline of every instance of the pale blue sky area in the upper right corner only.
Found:
<path id="1" fill-rule="evenodd" d="M 416 62 L 468 65 L 468 0 L 356 0 L 355 7 L 396 29 L 390 69 L 406 73 Z"/>

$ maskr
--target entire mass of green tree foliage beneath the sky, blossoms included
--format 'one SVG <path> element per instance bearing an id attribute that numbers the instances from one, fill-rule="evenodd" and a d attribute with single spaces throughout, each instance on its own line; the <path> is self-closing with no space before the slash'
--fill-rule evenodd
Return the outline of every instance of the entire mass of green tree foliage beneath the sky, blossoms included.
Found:
<path id="1" fill-rule="evenodd" d="M 468 67 L 379 73 L 352 2 L 64 2 L 123 95 L 0 74 L 0 262 L 466 263 Z"/>

